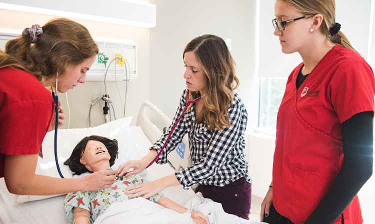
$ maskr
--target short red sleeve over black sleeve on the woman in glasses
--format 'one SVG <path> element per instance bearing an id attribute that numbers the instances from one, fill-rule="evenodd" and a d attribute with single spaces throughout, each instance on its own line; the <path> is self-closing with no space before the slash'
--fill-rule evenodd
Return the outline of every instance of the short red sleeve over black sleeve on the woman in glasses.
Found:
<path id="1" fill-rule="evenodd" d="M 340 123 L 352 115 L 374 110 L 375 80 L 364 60 L 342 63 L 329 83 L 329 95 Z"/>

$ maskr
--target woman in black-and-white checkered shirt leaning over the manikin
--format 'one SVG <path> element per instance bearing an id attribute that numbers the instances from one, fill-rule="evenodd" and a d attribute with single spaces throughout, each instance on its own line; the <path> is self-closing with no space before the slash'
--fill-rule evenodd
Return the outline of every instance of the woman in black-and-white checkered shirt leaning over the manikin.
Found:
<path id="1" fill-rule="evenodd" d="M 247 112 L 237 93 L 233 92 L 238 85 L 233 59 L 224 40 L 209 34 L 192 39 L 182 57 L 187 88 L 181 95 L 172 124 L 146 156 L 124 163 L 117 172 L 122 175 L 129 168 L 134 168 L 126 174 L 128 176 L 142 171 L 162 147 L 183 111 L 187 97 L 193 100 L 202 96 L 182 116 L 156 160 L 157 163 L 166 163 L 167 154 L 187 133 L 192 166 L 173 175 L 130 187 L 129 197 L 149 197 L 168 186 L 181 184 L 190 187 L 199 183 L 197 190 L 204 197 L 221 203 L 224 211 L 248 219 L 251 181 L 244 152 Z"/>

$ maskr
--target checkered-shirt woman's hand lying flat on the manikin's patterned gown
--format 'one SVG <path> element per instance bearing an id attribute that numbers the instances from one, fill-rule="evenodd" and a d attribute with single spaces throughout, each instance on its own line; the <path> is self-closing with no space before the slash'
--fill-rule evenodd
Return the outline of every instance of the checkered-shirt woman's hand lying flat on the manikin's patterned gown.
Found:
<path id="1" fill-rule="evenodd" d="M 129 198 L 134 198 L 138 196 L 143 196 L 144 198 L 149 198 L 152 195 L 160 192 L 165 188 L 165 185 L 160 179 L 153 180 L 150 182 L 144 182 L 139 185 L 130 186 L 124 189 L 124 193 L 127 194 Z"/>

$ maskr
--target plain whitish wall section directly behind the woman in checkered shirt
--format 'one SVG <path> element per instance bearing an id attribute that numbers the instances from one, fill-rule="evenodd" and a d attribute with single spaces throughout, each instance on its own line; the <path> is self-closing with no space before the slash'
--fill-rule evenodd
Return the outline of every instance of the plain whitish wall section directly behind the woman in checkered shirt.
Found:
<path id="1" fill-rule="evenodd" d="M 151 101 L 169 117 L 173 117 L 185 88 L 183 49 L 201 34 L 231 38 L 241 97 L 248 101 L 254 69 L 254 2 L 150 0 L 156 4 L 156 26 L 150 29 Z"/>

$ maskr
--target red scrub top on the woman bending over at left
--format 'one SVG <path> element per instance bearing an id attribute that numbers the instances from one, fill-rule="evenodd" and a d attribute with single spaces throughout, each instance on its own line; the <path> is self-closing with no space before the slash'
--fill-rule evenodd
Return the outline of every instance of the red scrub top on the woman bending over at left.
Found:
<path id="1" fill-rule="evenodd" d="M 53 106 L 51 93 L 34 75 L 0 68 L 0 177 L 5 155 L 39 152 Z"/>

